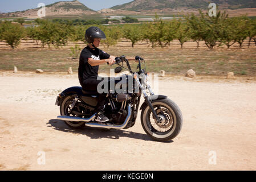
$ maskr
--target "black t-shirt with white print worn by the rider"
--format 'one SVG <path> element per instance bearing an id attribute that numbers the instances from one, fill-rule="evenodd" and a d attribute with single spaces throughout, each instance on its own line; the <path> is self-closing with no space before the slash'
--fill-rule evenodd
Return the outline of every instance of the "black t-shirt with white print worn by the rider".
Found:
<path id="1" fill-rule="evenodd" d="M 79 67 L 78 67 L 78 77 L 80 83 L 83 83 L 83 80 L 87 78 L 97 79 L 99 65 L 91 66 L 88 63 L 88 59 L 92 58 L 94 60 L 108 59 L 110 55 L 101 51 L 101 49 L 95 48 L 91 49 L 89 46 L 85 47 L 80 54 Z"/>

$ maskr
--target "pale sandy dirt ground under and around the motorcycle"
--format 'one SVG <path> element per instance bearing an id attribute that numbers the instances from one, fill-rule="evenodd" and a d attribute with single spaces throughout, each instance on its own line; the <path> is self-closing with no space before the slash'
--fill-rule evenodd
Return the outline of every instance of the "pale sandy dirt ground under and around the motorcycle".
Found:
<path id="1" fill-rule="evenodd" d="M 160 78 L 184 117 L 168 143 L 145 134 L 140 113 L 127 130 L 69 129 L 55 99 L 78 85 L 76 75 L 0 72 L 0 170 L 256 169 L 255 80 Z"/>

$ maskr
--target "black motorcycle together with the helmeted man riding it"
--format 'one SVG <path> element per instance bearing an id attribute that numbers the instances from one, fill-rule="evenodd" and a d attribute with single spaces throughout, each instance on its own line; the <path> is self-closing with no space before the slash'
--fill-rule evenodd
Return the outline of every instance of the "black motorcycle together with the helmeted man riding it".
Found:
<path id="1" fill-rule="evenodd" d="M 124 55 L 114 57 L 101 51 L 98 47 L 100 40 L 105 39 L 105 34 L 100 28 L 88 28 L 85 38 L 88 46 L 81 52 L 78 70 L 82 88 L 72 86 L 57 96 L 55 104 L 60 106 L 60 115 L 57 118 L 72 129 L 89 126 L 120 130 L 134 126 L 141 110 L 141 125 L 149 137 L 161 142 L 177 137 L 182 127 L 181 110 L 168 96 L 153 93 L 147 81 L 149 75 L 141 68 L 141 61 L 145 64 L 144 59 L 140 56 L 136 56 L 135 59 L 127 59 Z M 138 61 L 135 72 L 132 71 L 128 60 Z M 115 68 L 115 72 L 120 72 L 119 68 L 124 68 L 131 74 L 123 75 L 125 79 L 121 81 L 120 77 L 102 79 L 98 77 L 98 71 L 99 65 L 103 63 L 117 64 L 119 67 Z M 123 67 L 123 63 L 127 68 Z M 111 84 L 113 81 L 115 84 Z M 115 86 L 116 90 L 109 84 Z M 125 92 L 128 86 L 128 93 L 119 93 L 119 85 Z M 102 89 L 103 94 L 100 94 Z M 141 96 L 144 97 L 144 102 L 139 107 Z"/>

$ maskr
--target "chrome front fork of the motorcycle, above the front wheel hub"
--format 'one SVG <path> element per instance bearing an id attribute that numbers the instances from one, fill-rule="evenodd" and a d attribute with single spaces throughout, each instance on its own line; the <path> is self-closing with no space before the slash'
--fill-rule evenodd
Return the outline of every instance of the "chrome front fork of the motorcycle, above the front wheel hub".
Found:
<path id="1" fill-rule="evenodd" d="M 151 100 L 149 100 L 148 95 L 147 95 L 147 93 L 145 92 L 146 88 L 144 88 L 144 86 L 141 85 L 137 73 L 134 73 L 133 77 L 135 78 L 137 84 L 138 84 L 139 87 L 141 88 L 141 92 L 143 93 L 143 97 L 144 97 L 144 99 L 145 99 L 145 102 L 147 103 L 147 105 L 149 106 L 149 108 L 150 108 L 151 111 L 152 111 L 153 119 L 155 119 L 155 121 L 156 121 L 157 123 L 160 123 L 161 121 L 160 121 L 159 117 L 158 117 L 157 114 L 156 114 L 156 111 L 155 111 L 155 109 L 154 109 L 154 107 L 153 107 L 153 105 L 152 105 L 152 103 L 151 103 Z M 153 91 L 152 91 L 152 89 L 151 89 L 151 86 L 150 86 L 149 84 L 146 84 L 146 85 L 147 85 L 147 89 L 149 90 L 149 93 L 151 94 L 151 96 L 154 96 L 155 94 L 153 93 Z"/>

